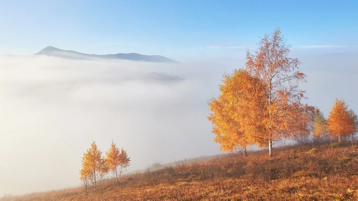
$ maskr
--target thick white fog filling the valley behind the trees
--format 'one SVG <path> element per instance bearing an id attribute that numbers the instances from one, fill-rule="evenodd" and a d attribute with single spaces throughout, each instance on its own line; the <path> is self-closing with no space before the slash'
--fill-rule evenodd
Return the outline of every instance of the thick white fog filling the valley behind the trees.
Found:
<path id="1" fill-rule="evenodd" d="M 358 112 L 355 54 L 297 55 L 309 104 L 327 116 L 339 97 Z M 220 153 L 207 101 L 243 64 L 0 56 L 0 196 L 79 185 L 92 141 L 126 149 L 129 171 Z"/>

